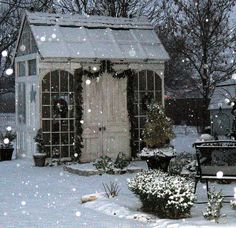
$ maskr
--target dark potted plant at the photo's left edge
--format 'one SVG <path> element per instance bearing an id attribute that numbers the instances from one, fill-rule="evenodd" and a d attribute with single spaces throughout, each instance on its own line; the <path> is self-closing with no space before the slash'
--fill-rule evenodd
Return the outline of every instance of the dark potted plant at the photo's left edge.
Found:
<path id="1" fill-rule="evenodd" d="M 11 160 L 14 151 L 12 141 L 16 138 L 16 133 L 11 127 L 6 128 L 5 133 L 0 134 L 0 161 Z"/>

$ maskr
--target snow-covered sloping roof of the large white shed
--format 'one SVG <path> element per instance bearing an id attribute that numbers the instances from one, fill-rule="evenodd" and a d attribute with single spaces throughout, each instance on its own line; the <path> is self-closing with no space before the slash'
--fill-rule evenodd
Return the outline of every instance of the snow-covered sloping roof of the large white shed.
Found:
<path id="1" fill-rule="evenodd" d="M 169 59 L 153 26 L 144 18 L 26 13 L 42 57 Z"/>

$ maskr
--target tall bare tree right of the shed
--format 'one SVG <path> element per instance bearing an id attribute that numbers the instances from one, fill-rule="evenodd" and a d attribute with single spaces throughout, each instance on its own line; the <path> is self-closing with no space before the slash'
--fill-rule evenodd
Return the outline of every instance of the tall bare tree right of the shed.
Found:
<path id="1" fill-rule="evenodd" d="M 175 39 L 204 99 L 205 109 L 215 85 L 236 70 L 235 28 L 229 17 L 235 0 L 176 0 Z"/>

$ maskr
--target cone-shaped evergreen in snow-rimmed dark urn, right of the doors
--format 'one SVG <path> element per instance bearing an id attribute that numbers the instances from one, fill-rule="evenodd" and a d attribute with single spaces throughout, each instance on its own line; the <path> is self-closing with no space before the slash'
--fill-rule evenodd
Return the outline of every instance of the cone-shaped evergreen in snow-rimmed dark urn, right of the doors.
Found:
<path id="1" fill-rule="evenodd" d="M 168 170 L 170 160 L 175 157 L 170 139 L 174 137 L 171 120 L 165 115 L 164 109 L 154 100 L 147 105 L 147 120 L 143 131 L 146 147 L 140 157 L 147 161 L 151 169 Z"/>

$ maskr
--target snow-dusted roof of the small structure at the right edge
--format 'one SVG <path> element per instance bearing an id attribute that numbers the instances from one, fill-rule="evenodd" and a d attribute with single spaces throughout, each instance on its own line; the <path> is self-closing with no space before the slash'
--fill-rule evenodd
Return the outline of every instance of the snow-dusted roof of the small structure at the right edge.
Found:
<path id="1" fill-rule="evenodd" d="M 232 100 L 236 98 L 236 80 L 228 79 L 224 82 L 219 83 L 212 95 L 208 109 L 232 109 L 230 105 L 227 104 L 227 100 Z"/>

